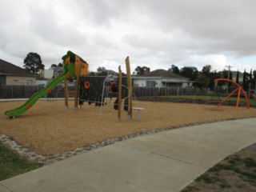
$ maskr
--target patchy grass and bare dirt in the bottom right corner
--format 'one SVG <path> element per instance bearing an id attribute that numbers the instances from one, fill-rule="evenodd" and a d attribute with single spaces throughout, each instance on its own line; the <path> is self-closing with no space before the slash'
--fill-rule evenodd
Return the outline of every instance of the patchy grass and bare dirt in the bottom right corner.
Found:
<path id="1" fill-rule="evenodd" d="M 256 143 L 231 154 L 181 192 L 256 191 Z"/>

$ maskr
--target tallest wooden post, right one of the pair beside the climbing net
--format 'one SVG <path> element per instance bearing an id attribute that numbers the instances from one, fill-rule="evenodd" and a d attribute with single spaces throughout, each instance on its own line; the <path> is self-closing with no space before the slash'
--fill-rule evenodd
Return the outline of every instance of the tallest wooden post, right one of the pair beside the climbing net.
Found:
<path id="1" fill-rule="evenodd" d="M 127 112 L 127 118 L 132 118 L 132 85 L 131 85 L 131 77 L 130 77 L 130 60 L 129 57 L 126 58 L 126 75 L 127 75 L 127 87 L 128 87 L 128 112 Z"/>

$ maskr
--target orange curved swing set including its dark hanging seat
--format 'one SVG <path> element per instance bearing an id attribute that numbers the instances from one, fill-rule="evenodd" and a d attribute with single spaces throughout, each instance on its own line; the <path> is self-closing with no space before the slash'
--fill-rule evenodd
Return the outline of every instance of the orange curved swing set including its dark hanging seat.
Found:
<path id="1" fill-rule="evenodd" d="M 231 82 L 232 84 L 234 84 L 234 86 L 237 86 L 237 88 L 235 90 L 233 90 L 228 96 L 226 96 L 226 98 L 224 98 L 223 100 L 220 99 L 220 95 L 219 95 L 219 92 L 218 92 L 218 88 L 216 89 L 217 92 L 215 92 L 215 95 L 213 94 L 211 99 L 210 99 L 210 103 L 217 103 L 218 106 L 221 106 L 222 103 L 226 102 L 230 97 L 234 96 L 235 93 L 237 92 L 238 96 L 237 96 L 237 102 L 236 102 L 236 110 L 238 110 L 238 106 L 239 106 L 239 100 L 240 100 L 240 94 L 242 93 L 246 99 L 246 107 L 247 109 L 250 108 L 250 103 L 249 103 L 249 100 L 247 98 L 247 95 L 246 95 L 246 92 L 245 90 L 242 89 L 242 86 L 240 86 L 237 82 L 234 82 L 230 79 L 227 79 L 227 78 L 216 78 L 214 79 L 214 82 L 218 83 L 218 82 L 221 82 L 221 81 L 224 81 L 224 82 Z M 214 99 L 214 96 L 218 96 L 218 99 Z"/>

